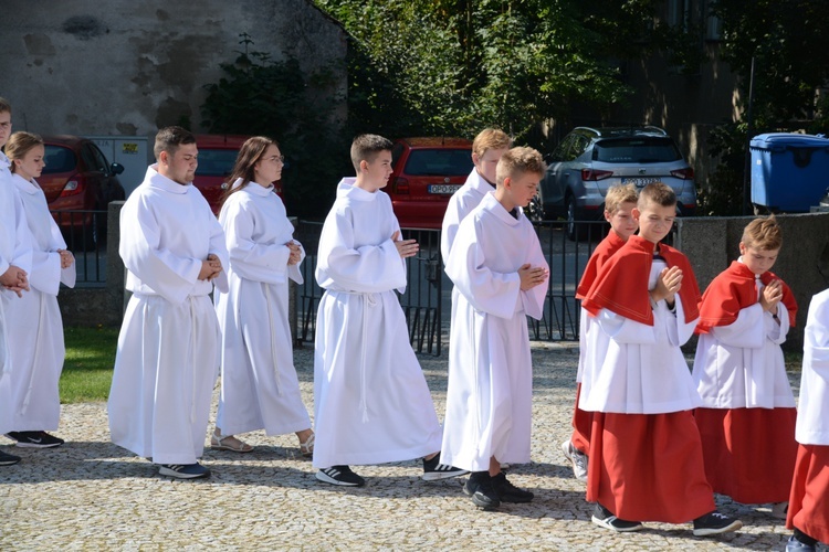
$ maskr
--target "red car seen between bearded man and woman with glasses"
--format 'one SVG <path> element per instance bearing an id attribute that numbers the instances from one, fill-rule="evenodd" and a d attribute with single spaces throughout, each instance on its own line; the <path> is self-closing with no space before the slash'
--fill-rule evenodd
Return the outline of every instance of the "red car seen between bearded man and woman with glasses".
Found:
<path id="1" fill-rule="evenodd" d="M 237 162 L 237 156 L 242 145 L 250 136 L 239 135 L 197 135 L 196 146 L 199 148 L 199 166 L 192 183 L 198 188 L 210 209 L 217 215 L 221 211 L 222 194 L 228 189 L 228 177 Z M 276 194 L 282 198 L 282 181 L 274 182 Z"/>

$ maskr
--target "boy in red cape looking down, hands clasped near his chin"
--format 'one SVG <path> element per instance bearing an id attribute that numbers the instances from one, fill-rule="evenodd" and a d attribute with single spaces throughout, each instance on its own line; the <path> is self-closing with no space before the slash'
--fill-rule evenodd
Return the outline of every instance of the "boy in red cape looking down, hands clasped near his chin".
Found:
<path id="1" fill-rule="evenodd" d="M 774 217 L 743 231 L 739 258 L 711 283 L 700 304 L 693 379 L 705 475 L 737 502 L 774 502 L 785 518 L 795 471 L 795 396 L 780 343 L 797 302 L 770 268 L 783 245 Z"/>

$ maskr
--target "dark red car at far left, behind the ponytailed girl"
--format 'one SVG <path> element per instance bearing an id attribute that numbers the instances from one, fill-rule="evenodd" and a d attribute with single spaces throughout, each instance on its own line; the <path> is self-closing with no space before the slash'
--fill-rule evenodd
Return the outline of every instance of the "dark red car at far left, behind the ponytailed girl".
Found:
<path id="1" fill-rule="evenodd" d="M 118 181 L 124 167 L 109 163 L 86 138 L 44 136 L 43 144 L 45 167 L 38 183 L 49 210 L 70 247 L 94 248 L 106 236 L 106 214 L 93 211 L 106 211 L 111 201 L 125 198 Z"/>

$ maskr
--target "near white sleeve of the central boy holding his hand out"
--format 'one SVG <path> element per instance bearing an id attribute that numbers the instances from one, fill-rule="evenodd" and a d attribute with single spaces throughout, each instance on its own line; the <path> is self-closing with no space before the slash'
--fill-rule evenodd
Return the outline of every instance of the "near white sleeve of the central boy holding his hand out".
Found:
<path id="1" fill-rule="evenodd" d="M 333 211 L 323 225 L 317 280 L 323 288 L 378 293 L 406 288 L 406 264 L 391 236 L 379 245 L 357 245 L 348 211 Z"/>

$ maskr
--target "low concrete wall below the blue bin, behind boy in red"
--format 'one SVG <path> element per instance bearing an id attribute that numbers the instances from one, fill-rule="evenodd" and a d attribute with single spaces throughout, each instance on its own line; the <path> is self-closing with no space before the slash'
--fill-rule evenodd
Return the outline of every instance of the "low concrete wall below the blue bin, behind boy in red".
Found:
<path id="1" fill-rule="evenodd" d="M 739 238 L 752 219 L 676 220 L 676 246 L 691 259 L 702 291 L 739 256 Z M 784 214 L 777 220 L 783 229 L 783 248 L 772 272 L 788 284 L 797 299 L 797 326 L 784 344 L 784 349 L 797 351 L 802 349 L 809 301 L 829 287 L 829 213 Z"/>

